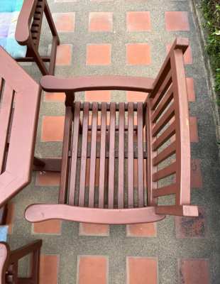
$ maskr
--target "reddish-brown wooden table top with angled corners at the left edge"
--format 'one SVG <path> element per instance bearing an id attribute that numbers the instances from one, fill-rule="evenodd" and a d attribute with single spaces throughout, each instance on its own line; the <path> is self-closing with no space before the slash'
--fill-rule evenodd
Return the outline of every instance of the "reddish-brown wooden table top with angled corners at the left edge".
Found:
<path id="1" fill-rule="evenodd" d="M 40 87 L 0 48 L 0 206 L 31 179 Z"/>

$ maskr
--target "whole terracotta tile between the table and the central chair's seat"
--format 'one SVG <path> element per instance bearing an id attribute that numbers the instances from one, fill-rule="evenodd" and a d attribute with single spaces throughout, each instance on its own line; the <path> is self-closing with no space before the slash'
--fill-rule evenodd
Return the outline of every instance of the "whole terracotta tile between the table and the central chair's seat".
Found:
<path id="1" fill-rule="evenodd" d="M 41 141 L 62 141 L 64 121 L 64 116 L 43 116 Z"/>

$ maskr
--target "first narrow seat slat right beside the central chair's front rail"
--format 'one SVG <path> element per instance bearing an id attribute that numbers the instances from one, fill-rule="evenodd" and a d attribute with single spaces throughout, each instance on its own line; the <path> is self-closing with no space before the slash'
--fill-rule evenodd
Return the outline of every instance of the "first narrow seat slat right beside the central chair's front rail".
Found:
<path id="1" fill-rule="evenodd" d="M 78 152 L 78 138 L 79 138 L 79 116 L 80 116 L 80 102 L 75 102 L 74 119 L 73 119 L 73 136 L 72 136 L 72 159 L 70 170 L 70 189 L 69 189 L 69 204 L 74 205 L 75 187 L 77 176 L 77 152 Z"/>

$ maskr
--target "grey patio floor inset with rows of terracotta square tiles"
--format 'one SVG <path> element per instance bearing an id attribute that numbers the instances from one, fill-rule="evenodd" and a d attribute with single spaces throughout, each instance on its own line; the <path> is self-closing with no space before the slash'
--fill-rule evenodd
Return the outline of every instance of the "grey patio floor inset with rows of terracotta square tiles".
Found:
<path id="1" fill-rule="evenodd" d="M 199 38 L 189 0 L 50 0 L 61 45 L 56 75 L 155 77 L 176 36 L 185 55 L 192 142 L 192 204 L 199 218 L 167 217 L 157 224 L 104 226 L 23 218 L 34 202 L 57 202 L 59 175 L 33 173 L 11 203 L 11 246 L 43 239 L 40 284 L 219 284 L 220 175 L 214 121 Z M 42 40 L 47 53 L 48 30 Z M 34 65 L 26 70 L 35 77 Z M 31 95 L 31 94 L 30 94 Z M 131 92 L 86 92 L 92 101 L 143 100 Z M 60 156 L 63 94 L 43 94 L 36 154 Z M 26 266 L 25 262 L 23 267 Z M 21 269 L 22 272 L 22 269 Z"/>

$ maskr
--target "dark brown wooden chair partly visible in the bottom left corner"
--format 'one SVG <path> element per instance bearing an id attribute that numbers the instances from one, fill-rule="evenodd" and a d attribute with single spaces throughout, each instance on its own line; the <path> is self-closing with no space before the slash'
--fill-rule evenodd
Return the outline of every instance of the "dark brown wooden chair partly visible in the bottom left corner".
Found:
<path id="1" fill-rule="evenodd" d="M 38 284 L 41 246 L 42 241 L 38 240 L 11 251 L 7 243 L 0 242 L 0 284 Z M 30 259 L 31 275 L 28 278 L 18 277 L 18 261 L 24 256 L 28 256 L 28 254 L 32 254 Z"/>

